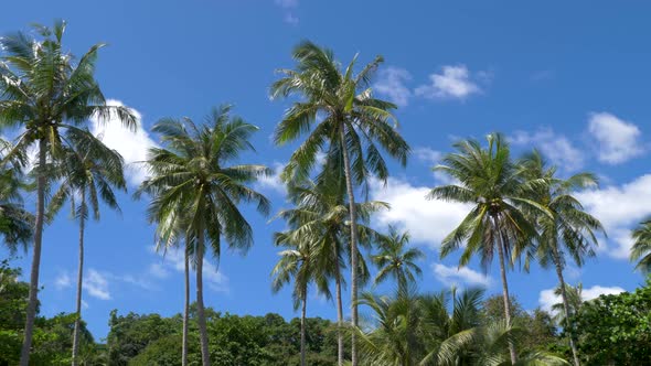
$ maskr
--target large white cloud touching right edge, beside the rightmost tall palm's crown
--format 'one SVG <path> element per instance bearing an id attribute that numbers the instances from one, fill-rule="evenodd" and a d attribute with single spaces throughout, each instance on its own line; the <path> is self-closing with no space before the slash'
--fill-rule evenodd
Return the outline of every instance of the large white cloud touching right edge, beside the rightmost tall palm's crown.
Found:
<path id="1" fill-rule="evenodd" d="M 651 215 L 651 174 L 622 185 L 610 185 L 578 193 L 586 209 L 604 224 L 608 245 L 600 240 L 600 250 L 613 258 L 627 259 L 632 246 L 630 228 Z"/>

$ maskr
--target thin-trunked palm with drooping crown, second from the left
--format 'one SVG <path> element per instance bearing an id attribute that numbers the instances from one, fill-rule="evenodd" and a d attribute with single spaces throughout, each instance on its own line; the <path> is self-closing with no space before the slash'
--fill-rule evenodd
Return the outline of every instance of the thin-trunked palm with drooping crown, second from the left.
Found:
<path id="1" fill-rule="evenodd" d="M 82 320 L 82 284 L 84 273 L 84 230 L 88 214 L 99 220 L 99 202 L 120 211 L 114 189 L 127 190 L 124 162 L 120 154 L 107 148 L 90 133 L 72 134 L 70 147 L 64 148 L 64 159 L 58 162 L 56 174 L 62 177 L 58 191 L 52 196 L 47 217 L 51 219 L 63 203 L 71 201 L 73 216 L 79 223 L 79 263 L 77 271 L 76 319 L 73 331 L 72 364 L 77 365 L 79 324 Z M 75 198 L 78 197 L 78 204 Z"/>

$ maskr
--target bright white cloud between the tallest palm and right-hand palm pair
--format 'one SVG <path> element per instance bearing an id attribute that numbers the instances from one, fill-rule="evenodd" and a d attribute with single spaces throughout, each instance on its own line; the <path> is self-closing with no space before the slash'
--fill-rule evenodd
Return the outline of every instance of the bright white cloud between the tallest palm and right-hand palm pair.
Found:
<path id="1" fill-rule="evenodd" d="M 441 240 L 456 228 L 470 211 L 469 205 L 444 201 L 428 201 L 430 187 L 413 186 L 389 177 L 387 185 L 374 181 L 371 197 L 391 204 L 374 217 L 380 225 L 397 225 L 412 235 L 415 243 L 438 248 Z"/>

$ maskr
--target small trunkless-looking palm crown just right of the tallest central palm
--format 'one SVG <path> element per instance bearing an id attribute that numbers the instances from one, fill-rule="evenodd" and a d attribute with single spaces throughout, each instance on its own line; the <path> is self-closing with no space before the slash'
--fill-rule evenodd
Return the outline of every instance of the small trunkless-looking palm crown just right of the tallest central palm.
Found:
<path id="1" fill-rule="evenodd" d="M 398 287 L 406 287 L 414 282 L 416 276 L 423 276 L 416 260 L 425 258 L 425 254 L 417 248 L 406 248 L 409 243 L 408 233 L 398 233 L 393 226 L 388 228 L 388 236 L 380 240 L 380 252 L 372 256 L 371 260 L 380 269 L 375 276 L 375 284 L 393 277 Z"/>

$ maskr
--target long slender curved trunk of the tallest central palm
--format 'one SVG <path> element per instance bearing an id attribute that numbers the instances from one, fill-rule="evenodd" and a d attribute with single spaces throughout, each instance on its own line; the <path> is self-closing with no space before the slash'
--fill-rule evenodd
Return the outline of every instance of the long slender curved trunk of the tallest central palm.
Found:
<path id="1" fill-rule="evenodd" d="M 348 191 L 349 211 L 351 216 L 351 323 L 357 326 L 357 223 L 355 211 L 355 195 L 353 192 L 353 180 L 351 177 L 351 162 L 345 143 L 345 131 L 342 123 L 339 131 L 341 150 L 343 152 L 343 165 L 345 174 L 345 187 Z M 352 366 L 357 366 L 357 346 L 355 333 L 352 333 L 351 360 Z"/>

